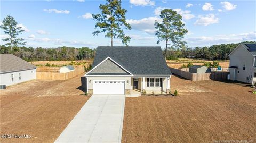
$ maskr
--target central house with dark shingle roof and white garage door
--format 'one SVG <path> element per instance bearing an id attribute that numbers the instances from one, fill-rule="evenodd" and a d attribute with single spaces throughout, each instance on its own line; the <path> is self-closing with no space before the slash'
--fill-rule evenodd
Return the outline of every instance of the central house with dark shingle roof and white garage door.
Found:
<path id="1" fill-rule="evenodd" d="M 89 94 L 130 94 L 169 92 L 171 75 L 161 47 L 98 47 L 84 76 Z"/>

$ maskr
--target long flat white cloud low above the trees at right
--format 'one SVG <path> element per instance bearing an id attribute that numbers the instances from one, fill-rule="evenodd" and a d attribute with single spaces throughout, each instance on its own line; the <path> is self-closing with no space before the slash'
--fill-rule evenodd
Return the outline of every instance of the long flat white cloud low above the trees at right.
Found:
<path id="1" fill-rule="evenodd" d="M 213 44 L 223 43 L 239 43 L 241 41 L 255 41 L 256 31 L 249 33 L 228 34 L 228 35 L 214 35 L 214 36 L 200 36 L 187 38 L 189 45 L 194 46 L 210 46 Z"/>

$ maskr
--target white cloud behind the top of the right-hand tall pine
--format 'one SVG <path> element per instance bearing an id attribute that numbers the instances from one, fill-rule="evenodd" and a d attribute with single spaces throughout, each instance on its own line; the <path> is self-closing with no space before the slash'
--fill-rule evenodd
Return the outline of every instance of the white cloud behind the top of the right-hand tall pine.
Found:
<path id="1" fill-rule="evenodd" d="M 167 7 L 157 7 L 155 10 L 154 10 L 154 14 L 156 16 L 159 16 L 161 14 L 161 11 L 164 10 L 164 9 L 169 9 Z M 178 14 L 180 14 L 182 16 L 182 19 L 185 19 L 185 20 L 189 20 L 191 18 L 194 18 L 195 15 L 194 14 L 191 14 L 191 11 L 187 11 L 187 10 L 182 10 L 182 9 L 173 9 L 174 11 L 176 11 Z"/>

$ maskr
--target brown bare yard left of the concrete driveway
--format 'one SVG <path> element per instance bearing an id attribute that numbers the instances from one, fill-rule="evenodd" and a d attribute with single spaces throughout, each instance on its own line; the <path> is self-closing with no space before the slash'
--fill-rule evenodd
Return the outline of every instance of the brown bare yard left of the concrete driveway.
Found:
<path id="1" fill-rule="evenodd" d="M 0 134 L 31 138 L 0 138 L 0 142 L 54 142 L 89 99 L 81 95 L 80 77 L 33 80 L 1 90 Z"/>

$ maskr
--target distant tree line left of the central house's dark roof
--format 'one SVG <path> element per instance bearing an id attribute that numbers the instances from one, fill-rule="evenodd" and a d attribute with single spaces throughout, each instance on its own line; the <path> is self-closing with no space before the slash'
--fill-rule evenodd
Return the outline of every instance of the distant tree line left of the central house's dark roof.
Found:
<path id="1" fill-rule="evenodd" d="M 26 61 L 63 61 L 63 60 L 89 60 L 94 57 L 95 49 L 89 47 L 58 47 L 58 48 L 42 48 L 42 47 L 19 47 L 15 46 L 11 50 L 11 46 L 0 46 L 1 54 L 11 54 L 18 56 Z"/>

